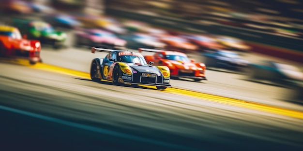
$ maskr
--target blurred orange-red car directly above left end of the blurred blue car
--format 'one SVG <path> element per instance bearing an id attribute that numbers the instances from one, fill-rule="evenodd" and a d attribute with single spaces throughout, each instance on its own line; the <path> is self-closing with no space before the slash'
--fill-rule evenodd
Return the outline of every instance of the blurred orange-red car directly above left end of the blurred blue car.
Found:
<path id="1" fill-rule="evenodd" d="M 218 43 L 211 36 L 196 34 L 182 34 L 181 36 L 188 41 L 196 44 L 199 47 L 199 51 L 225 49 L 224 45 Z"/>

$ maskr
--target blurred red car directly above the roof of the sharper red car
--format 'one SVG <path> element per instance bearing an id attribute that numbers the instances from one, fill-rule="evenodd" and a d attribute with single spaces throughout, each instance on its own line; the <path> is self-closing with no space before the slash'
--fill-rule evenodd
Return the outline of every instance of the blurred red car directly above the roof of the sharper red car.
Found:
<path id="1" fill-rule="evenodd" d="M 186 53 L 195 52 L 198 49 L 197 45 L 194 45 L 190 41 L 179 36 L 162 35 L 159 37 L 159 40 L 166 43 L 166 49 L 170 51 L 179 51 Z"/>

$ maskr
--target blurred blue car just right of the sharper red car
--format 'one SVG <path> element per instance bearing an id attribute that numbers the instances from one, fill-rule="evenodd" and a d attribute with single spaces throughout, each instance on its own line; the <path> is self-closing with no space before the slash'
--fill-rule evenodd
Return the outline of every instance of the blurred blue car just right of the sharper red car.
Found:
<path id="1" fill-rule="evenodd" d="M 204 53 L 205 64 L 207 67 L 243 70 L 250 62 L 241 58 L 237 53 L 227 50 L 214 50 Z"/>

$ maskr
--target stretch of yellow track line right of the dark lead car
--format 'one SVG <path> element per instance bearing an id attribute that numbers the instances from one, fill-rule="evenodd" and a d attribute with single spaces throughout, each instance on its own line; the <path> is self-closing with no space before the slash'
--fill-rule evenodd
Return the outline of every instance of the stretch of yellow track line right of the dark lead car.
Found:
<path id="1" fill-rule="evenodd" d="M 280 115 L 286 115 L 286 116 L 290 116 L 290 117 L 303 119 L 303 112 L 294 111 L 294 110 L 281 109 L 281 108 L 266 106 L 266 105 L 262 105 L 262 104 L 246 102 L 246 101 L 242 101 L 242 100 L 238 100 L 238 99 L 227 98 L 227 97 L 222 97 L 222 96 L 213 96 L 213 95 L 209 95 L 209 94 L 203 94 L 203 93 L 199 93 L 199 92 L 176 89 L 176 88 L 167 88 L 166 92 L 172 93 L 172 94 L 179 94 L 179 95 L 182 94 L 182 95 L 186 95 L 186 96 L 190 96 L 190 97 L 209 100 L 212 102 L 218 102 L 218 103 L 238 106 L 238 107 L 242 107 L 242 108 L 266 111 L 266 112 L 270 112 L 270 113 L 276 113 L 276 114 L 280 114 Z"/>

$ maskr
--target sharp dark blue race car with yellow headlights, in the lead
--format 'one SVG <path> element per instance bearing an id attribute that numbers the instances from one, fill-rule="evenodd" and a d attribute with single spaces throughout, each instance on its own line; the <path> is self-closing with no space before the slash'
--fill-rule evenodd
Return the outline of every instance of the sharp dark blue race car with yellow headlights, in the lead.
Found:
<path id="1" fill-rule="evenodd" d="M 159 90 L 171 87 L 170 73 L 166 66 L 147 64 L 143 55 L 136 52 L 91 48 L 91 53 L 108 53 L 104 58 L 94 58 L 91 62 L 91 80 L 100 82 L 102 79 L 114 84 L 141 84 L 156 86 Z"/>

